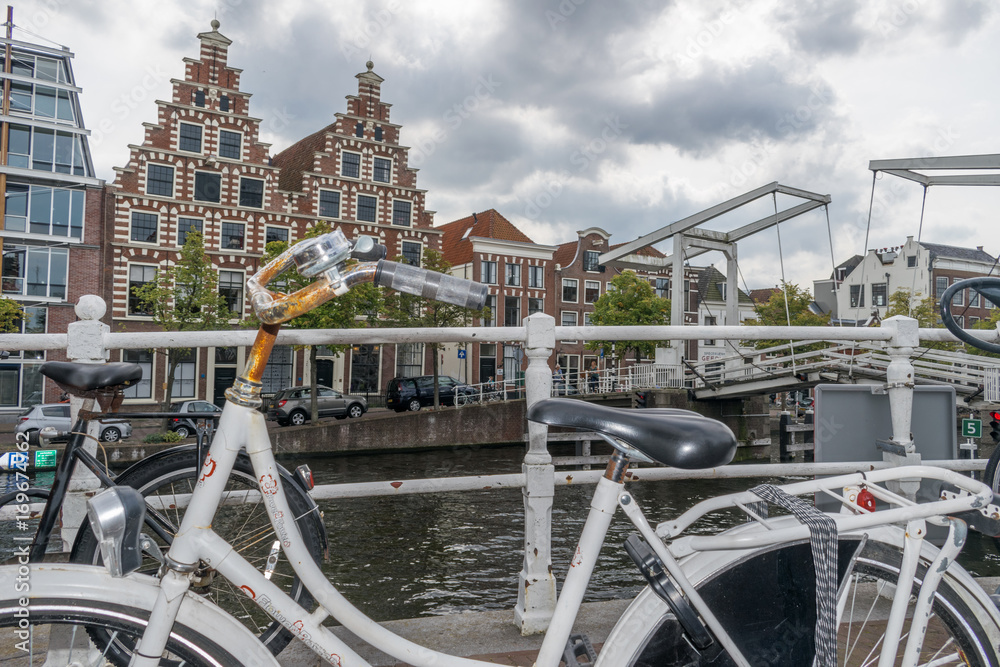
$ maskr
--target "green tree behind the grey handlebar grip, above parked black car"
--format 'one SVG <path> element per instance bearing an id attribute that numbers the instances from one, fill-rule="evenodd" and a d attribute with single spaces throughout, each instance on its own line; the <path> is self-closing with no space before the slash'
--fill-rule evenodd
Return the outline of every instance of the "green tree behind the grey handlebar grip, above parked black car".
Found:
<path id="1" fill-rule="evenodd" d="M 448 273 L 451 269 L 444 256 L 436 250 L 425 249 L 421 258 L 423 268 L 438 273 Z M 425 299 L 403 292 L 388 292 L 385 296 L 385 319 L 382 324 L 390 327 L 413 327 L 420 329 L 438 327 L 467 326 L 474 316 L 482 316 L 479 311 L 462 308 L 450 303 Z M 432 372 L 434 375 L 434 409 L 441 406 L 438 389 L 438 350 L 440 343 L 430 343 Z"/>

